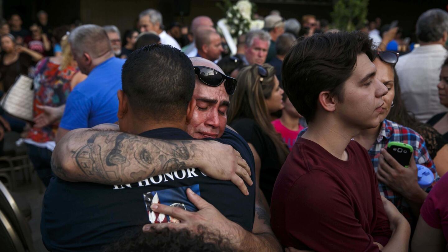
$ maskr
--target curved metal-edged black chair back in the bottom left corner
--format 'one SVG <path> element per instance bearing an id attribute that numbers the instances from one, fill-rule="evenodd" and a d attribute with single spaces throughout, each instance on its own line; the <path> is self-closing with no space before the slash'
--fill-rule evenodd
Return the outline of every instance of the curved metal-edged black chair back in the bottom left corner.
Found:
<path id="1" fill-rule="evenodd" d="M 17 236 L 22 243 L 22 246 L 25 248 L 25 251 L 35 252 L 30 226 L 20 212 L 20 209 L 17 207 L 16 201 L 2 182 L 0 182 L 0 211 L 9 221 L 12 228 L 17 232 Z M 0 250 L 3 251 L 2 248 L 0 248 Z"/>

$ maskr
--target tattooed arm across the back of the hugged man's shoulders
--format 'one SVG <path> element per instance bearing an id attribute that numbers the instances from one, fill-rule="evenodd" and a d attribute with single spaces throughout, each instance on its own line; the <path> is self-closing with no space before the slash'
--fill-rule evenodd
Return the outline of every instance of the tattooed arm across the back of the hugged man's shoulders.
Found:
<path id="1" fill-rule="evenodd" d="M 250 168 L 239 152 L 216 141 L 150 139 L 100 125 L 67 133 L 52 155 L 56 176 L 72 182 L 129 184 L 180 169 L 198 167 L 204 174 L 231 180 L 248 194 Z M 216 156 L 215 153 L 220 153 Z"/>

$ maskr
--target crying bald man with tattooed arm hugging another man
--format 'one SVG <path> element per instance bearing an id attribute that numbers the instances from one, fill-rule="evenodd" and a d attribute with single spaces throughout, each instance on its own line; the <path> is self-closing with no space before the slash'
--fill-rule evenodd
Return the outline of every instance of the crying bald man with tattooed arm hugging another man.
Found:
<path id="1" fill-rule="evenodd" d="M 233 94 L 236 87 L 236 81 L 233 78 L 227 77 L 223 74 L 223 71 L 215 65 L 213 62 L 203 58 L 193 57 L 190 58 L 194 65 L 194 73 L 196 78 L 196 85 L 194 88 L 193 98 L 196 103 L 193 116 L 190 119 L 188 125 L 186 125 L 186 132 L 195 139 L 204 138 L 220 138 L 226 139 L 229 143 L 244 141 L 233 130 L 226 128 L 227 123 L 227 108 L 229 105 L 229 94 Z M 231 180 L 239 185 L 241 191 L 249 192 L 249 196 L 246 201 L 253 202 L 254 198 L 254 185 L 247 191 L 246 185 L 239 176 L 243 177 L 245 181 L 249 177 L 249 174 L 245 173 L 241 167 L 245 167 L 246 163 L 241 159 L 233 148 L 229 146 L 216 143 L 214 141 L 199 141 L 192 140 L 192 143 L 184 143 L 183 148 L 177 148 L 176 144 L 166 141 L 166 144 L 153 143 L 155 139 L 147 139 L 144 137 L 125 134 L 117 132 L 118 126 L 116 125 L 101 125 L 97 129 L 78 129 L 70 131 L 66 137 L 56 146 L 53 152 L 52 169 L 55 174 L 65 180 L 73 182 L 96 182 L 101 184 L 115 185 L 116 181 L 120 181 L 120 184 L 126 187 L 125 184 L 138 182 L 141 178 L 154 177 L 159 174 L 164 174 L 170 171 L 176 171 L 185 169 L 188 167 L 198 167 L 198 169 L 212 178 Z M 93 138 L 95 134 L 102 133 L 103 137 Z M 118 137 L 121 135 L 122 137 Z M 115 139 L 115 141 L 114 141 Z M 118 142 L 117 142 L 118 141 Z M 116 143 L 119 143 L 117 145 Z M 194 144 L 193 144 L 194 143 Z M 77 160 L 78 153 L 81 153 L 83 146 L 93 145 L 98 149 L 111 150 L 110 153 L 120 153 L 123 162 L 115 162 L 112 166 L 118 167 L 123 172 L 118 175 L 117 178 L 111 179 L 107 175 L 111 168 L 108 166 L 107 155 L 100 156 L 98 165 L 95 170 L 98 172 L 84 172 L 85 167 Z M 115 146 L 115 147 L 114 147 Z M 244 144 L 245 148 L 240 151 L 246 152 L 248 150 L 247 143 Z M 145 149 L 146 154 L 149 156 L 157 156 L 158 152 L 163 151 L 166 153 L 178 153 L 182 158 L 179 158 L 181 165 L 170 165 L 168 168 L 164 168 L 162 162 L 153 159 L 152 163 L 142 163 L 135 158 L 135 150 Z M 249 150 L 250 151 L 250 150 Z M 93 154 L 94 150 L 87 150 L 88 153 L 84 153 L 87 156 Z M 194 152 L 194 155 L 192 155 Z M 75 153 L 75 154 L 70 154 Z M 186 155 L 190 153 L 190 155 Z M 236 154 L 234 154 L 236 153 Z M 183 155 L 181 155 L 183 154 Z M 86 156 L 84 155 L 84 156 Z M 241 154 L 242 155 L 242 154 Z M 243 159 L 250 164 L 250 178 L 254 181 L 254 165 L 253 157 L 242 156 Z M 109 159 L 111 160 L 111 159 Z M 119 161 L 116 159 L 116 161 Z M 157 161 L 157 162 L 156 162 Z M 85 164 L 86 162 L 84 162 Z M 234 168 L 236 166 L 236 168 Z M 94 170 L 94 169 L 90 169 Z M 133 175 L 134 174 L 134 175 Z M 135 177 L 138 174 L 138 178 Z M 241 210 L 240 204 L 243 202 L 237 202 L 231 199 L 232 196 L 222 198 L 223 204 L 227 204 L 235 209 L 235 211 Z M 189 196 L 189 199 L 192 200 Z M 225 235 L 230 242 L 232 242 L 237 248 L 241 248 L 246 251 L 279 251 L 280 245 L 272 233 L 269 224 L 269 212 L 265 207 L 261 199 L 255 200 L 255 217 L 253 226 L 250 228 L 243 228 L 237 223 L 235 217 L 224 214 L 220 209 L 221 214 L 213 205 L 208 204 L 200 197 L 194 197 L 192 202 L 199 209 L 198 212 L 192 213 L 182 211 L 181 209 L 172 210 L 172 207 L 166 205 L 159 205 L 158 212 L 167 213 L 174 211 L 174 213 L 168 213 L 168 215 L 180 220 L 183 226 L 196 230 L 198 225 L 206 226 L 207 228 L 220 229 L 220 233 Z M 188 216 L 188 217 L 185 217 Z M 228 219 L 227 219 L 228 218 Z M 250 218 L 253 220 L 253 218 Z M 251 220 L 249 220 L 251 222 Z M 246 220 L 248 221 L 248 220 Z M 167 224 L 155 224 L 159 227 L 164 227 Z M 176 227 L 176 226 L 174 226 Z M 252 231 L 252 233 L 250 232 Z"/>

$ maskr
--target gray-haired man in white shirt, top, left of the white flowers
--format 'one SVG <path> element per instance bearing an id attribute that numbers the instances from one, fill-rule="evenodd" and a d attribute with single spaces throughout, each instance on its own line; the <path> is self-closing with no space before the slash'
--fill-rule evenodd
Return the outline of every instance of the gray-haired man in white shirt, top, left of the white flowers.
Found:
<path id="1" fill-rule="evenodd" d="M 162 14 L 155 9 L 146 9 L 138 15 L 138 26 L 140 26 L 140 32 L 154 31 L 160 37 L 160 43 L 171 45 L 179 50 L 181 46 L 177 43 L 176 39 L 168 35 L 163 27 Z"/>

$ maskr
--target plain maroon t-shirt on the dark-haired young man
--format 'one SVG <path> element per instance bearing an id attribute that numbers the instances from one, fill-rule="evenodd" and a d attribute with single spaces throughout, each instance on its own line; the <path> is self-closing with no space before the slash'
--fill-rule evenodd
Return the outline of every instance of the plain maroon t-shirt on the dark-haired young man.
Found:
<path id="1" fill-rule="evenodd" d="M 348 161 L 299 138 L 274 185 L 271 225 L 285 247 L 379 251 L 392 231 L 366 150 L 356 141 Z"/>

